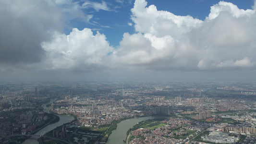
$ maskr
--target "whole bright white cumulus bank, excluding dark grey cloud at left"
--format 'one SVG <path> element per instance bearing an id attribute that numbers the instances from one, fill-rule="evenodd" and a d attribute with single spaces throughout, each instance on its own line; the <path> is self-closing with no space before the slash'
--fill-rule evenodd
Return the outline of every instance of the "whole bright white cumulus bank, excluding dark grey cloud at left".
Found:
<path id="1" fill-rule="evenodd" d="M 240 10 L 220 1 L 201 21 L 146 4 L 145 0 L 135 0 L 131 19 L 137 33 L 123 34 L 115 49 L 109 46 L 106 36 L 94 36 L 90 29 L 73 29 L 68 36 L 54 33 L 52 42 L 42 43 L 47 52 L 45 67 L 131 71 L 255 68 L 255 10 Z"/>

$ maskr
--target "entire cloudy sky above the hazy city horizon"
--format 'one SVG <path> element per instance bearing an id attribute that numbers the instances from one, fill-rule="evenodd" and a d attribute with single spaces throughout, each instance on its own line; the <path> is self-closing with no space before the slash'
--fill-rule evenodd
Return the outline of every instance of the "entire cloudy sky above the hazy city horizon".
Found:
<path id="1" fill-rule="evenodd" d="M 0 80 L 255 81 L 254 0 L 0 0 Z"/>

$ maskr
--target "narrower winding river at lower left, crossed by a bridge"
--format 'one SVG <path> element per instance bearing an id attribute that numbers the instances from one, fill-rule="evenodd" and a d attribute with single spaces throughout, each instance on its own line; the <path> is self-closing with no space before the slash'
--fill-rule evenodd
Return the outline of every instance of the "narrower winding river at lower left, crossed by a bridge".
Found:
<path id="1" fill-rule="evenodd" d="M 57 99 L 51 99 L 50 102 L 43 104 L 42 107 L 44 108 L 44 112 L 48 112 L 50 111 L 50 108 L 47 108 L 46 105 L 47 104 L 51 104 L 54 101 L 56 101 Z M 49 124 L 48 126 L 44 127 L 42 130 L 38 131 L 36 133 L 36 135 L 41 135 L 41 133 L 47 133 L 53 129 L 55 129 L 58 126 L 61 126 L 64 123 L 70 122 L 72 120 L 74 120 L 74 118 L 72 116 L 62 116 L 62 115 L 57 115 L 60 117 L 60 121 L 53 123 L 53 124 Z M 22 144 L 39 144 L 37 142 L 38 137 L 37 136 L 31 136 L 29 139 L 25 140 Z"/>

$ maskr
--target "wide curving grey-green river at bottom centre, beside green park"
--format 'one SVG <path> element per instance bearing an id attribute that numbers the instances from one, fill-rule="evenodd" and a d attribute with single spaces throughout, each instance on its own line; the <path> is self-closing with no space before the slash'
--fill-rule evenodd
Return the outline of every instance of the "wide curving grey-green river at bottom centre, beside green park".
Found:
<path id="1" fill-rule="evenodd" d="M 126 132 L 132 128 L 135 124 L 142 120 L 160 119 L 165 118 L 163 116 L 148 116 L 123 120 L 117 124 L 116 130 L 113 130 L 110 134 L 107 144 L 124 144 L 123 140 L 126 138 Z"/>

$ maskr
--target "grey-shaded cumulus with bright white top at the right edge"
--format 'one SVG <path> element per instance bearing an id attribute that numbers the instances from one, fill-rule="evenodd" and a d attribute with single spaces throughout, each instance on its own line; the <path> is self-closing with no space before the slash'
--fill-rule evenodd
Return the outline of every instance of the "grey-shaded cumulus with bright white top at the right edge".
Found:
<path id="1" fill-rule="evenodd" d="M 255 67 L 255 23 L 255 10 L 240 10 L 234 4 L 223 1 L 212 6 L 201 29 L 189 34 L 195 47 L 202 51 L 198 68 Z M 238 64 L 239 61 L 245 62 L 245 65 Z"/>

